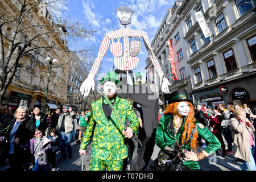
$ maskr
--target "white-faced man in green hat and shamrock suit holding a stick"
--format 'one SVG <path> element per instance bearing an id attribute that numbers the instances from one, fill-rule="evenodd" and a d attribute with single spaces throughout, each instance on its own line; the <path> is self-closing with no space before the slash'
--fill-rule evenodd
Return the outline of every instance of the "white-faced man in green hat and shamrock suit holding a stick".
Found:
<path id="1" fill-rule="evenodd" d="M 128 100 L 119 98 L 116 95 L 120 84 L 117 73 L 109 72 L 101 79 L 101 85 L 106 96 L 112 102 L 122 123 L 125 125 L 126 119 L 130 126 L 125 131 L 123 125 L 115 117 L 112 109 L 104 97 L 92 103 L 92 115 L 80 145 L 80 154 L 86 155 L 86 147 L 93 134 L 92 159 L 90 160 L 90 171 L 121 171 L 123 159 L 127 158 L 128 152 L 125 138 L 133 137 L 139 127 L 139 119 L 135 115 Z"/>

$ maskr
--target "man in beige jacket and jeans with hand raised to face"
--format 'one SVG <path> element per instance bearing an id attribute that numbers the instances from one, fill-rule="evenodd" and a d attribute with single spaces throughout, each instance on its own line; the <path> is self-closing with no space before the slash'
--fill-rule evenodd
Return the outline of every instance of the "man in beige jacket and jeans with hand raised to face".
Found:
<path id="1" fill-rule="evenodd" d="M 68 158 L 72 158 L 71 138 L 73 131 L 73 123 L 76 118 L 76 113 L 72 111 L 70 105 L 63 105 L 63 114 L 60 115 L 56 130 L 59 134 L 60 140 L 60 155 L 61 158 L 58 161 L 65 160 L 67 158 L 66 149 L 68 152 Z"/>

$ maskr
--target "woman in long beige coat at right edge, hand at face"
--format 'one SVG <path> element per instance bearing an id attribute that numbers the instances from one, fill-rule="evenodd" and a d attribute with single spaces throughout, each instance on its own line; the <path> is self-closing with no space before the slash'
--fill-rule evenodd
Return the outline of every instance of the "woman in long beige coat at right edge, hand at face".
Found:
<path id="1" fill-rule="evenodd" d="M 246 118 L 244 109 L 234 110 L 234 118 L 230 119 L 230 128 L 234 140 L 233 155 L 243 160 L 242 171 L 256 171 L 253 158 L 255 129 L 253 123 Z"/>

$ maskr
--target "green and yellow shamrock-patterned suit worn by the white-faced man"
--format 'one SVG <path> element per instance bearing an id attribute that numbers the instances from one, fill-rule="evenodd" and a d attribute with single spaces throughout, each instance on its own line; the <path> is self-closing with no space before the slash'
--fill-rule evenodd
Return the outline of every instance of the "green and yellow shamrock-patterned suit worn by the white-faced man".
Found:
<path id="1" fill-rule="evenodd" d="M 113 105 L 123 124 L 125 125 L 127 119 L 131 123 L 129 127 L 137 133 L 139 119 L 131 109 L 130 102 L 117 96 Z M 102 110 L 102 97 L 93 102 L 91 108 L 92 115 L 80 145 L 82 150 L 86 150 L 93 134 L 94 123 L 96 123 L 89 170 L 100 171 L 106 167 L 108 170 L 122 170 L 123 159 L 128 156 L 125 137 L 122 134 L 123 126 L 118 122 L 113 111 L 109 121 L 105 117 Z"/>

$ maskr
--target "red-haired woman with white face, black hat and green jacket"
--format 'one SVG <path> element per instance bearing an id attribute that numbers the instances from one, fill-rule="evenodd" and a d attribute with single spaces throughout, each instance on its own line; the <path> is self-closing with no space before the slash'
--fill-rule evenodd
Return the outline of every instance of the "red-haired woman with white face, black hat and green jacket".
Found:
<path id="1" fill-rule="evenodd" d="M 193 105 L 188 99 L 186 90 L 177 90 L 171 94 L 170 98 L 164 115 L 159 120 L 155 137 L 155 143 L 161 149 L 159 154 L 168 156 L 166 159 L 169 162 L 159 161 L 158 163 L 164 164 L 162 169 L 165 170 L 197 170 L 199 169 L 197 161 L 212 155 L 221 144 L 204 125 L 196 121 Z M 196 131 L 193 135 L 191 131 L 195 128 Z M 199 154 L 196 151 L 198 135 L 209 143 Z M 190 136 L 191 141 L 189 142 Z"/>

